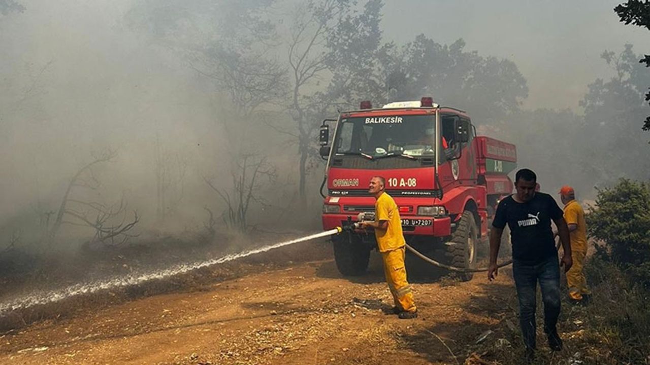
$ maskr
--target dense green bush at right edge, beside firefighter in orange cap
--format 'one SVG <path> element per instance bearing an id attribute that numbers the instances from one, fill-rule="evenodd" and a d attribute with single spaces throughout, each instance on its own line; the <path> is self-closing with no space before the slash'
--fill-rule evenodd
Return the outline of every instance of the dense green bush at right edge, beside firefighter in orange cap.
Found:
<path id="1" fill-rule="evenodd" d="M 604 242 L 599 255 L 650 284 L 650 185 L 621 179 L 613 188 L 599 190 L 587 227 Z"/>

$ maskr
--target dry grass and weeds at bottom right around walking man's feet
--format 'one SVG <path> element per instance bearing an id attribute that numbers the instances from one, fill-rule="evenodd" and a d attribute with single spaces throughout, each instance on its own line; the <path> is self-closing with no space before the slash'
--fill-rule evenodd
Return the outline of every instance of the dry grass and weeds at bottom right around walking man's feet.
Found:
<path id="1" fill-rule="evenodd" d="M 564 339 L 563 351 L 548 349 L 541 331 L 543 308 L 538 305 L 539 351 L 534 364 L 650 364 L 650 292 L 613 264 L 597 258 L 586 270 L 593 290 L 590 305 L 562 303 L 558 332 Z M 516 298 L 510 305 L 517 307 Z M 468 363 L 478 364 L 480 358 L 485 364 L 521 364 L 523 346 L 516 313 L 510 312 L 497 327 L 493 338 L 476 349 Z"/>

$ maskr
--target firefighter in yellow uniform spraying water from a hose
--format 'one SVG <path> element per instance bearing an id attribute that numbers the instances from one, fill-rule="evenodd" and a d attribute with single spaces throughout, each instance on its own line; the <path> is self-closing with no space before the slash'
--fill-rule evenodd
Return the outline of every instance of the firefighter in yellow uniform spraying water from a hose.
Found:
<path id="1" fill-rule="evenodd" d="M 384 191 L 384 184 L 383 177 L 375 176 L 370 179 L 368 191 L 377 199 L 374 205 L 375 220 L 361 224 L 363 228 L 374 228 L 377 245 L 382 253 L 383 271 L 395 301 L 393 312 L 402 319 L 416 318 L 417 309 L 413 301 L 413 293 L 406 280 L 404 266 L 406 240 L 402 234 L 400 212 L 391 195 Z"/>

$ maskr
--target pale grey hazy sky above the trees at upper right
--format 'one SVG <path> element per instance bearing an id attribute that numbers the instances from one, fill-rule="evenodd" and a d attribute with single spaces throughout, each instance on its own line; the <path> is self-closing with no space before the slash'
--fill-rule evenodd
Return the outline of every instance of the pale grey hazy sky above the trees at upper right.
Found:
<path id="1" fill-rule="evenodd" d="M 617 0 L 387 0 L 382 28 L 387 40 L 409 42 L 420 33 L 466 50 L 513 60 L 528 81 L 526 108 L 572 108 L 587 85 L 611 71 L 605 50 L 650 53 L 650 32 L 623 25 Z M 435 95 L 434 95 L 435 97 Z"/>

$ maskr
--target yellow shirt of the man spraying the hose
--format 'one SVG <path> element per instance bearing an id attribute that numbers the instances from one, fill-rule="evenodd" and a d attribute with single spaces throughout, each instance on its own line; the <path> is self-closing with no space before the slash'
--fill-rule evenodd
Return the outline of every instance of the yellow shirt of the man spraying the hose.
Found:
<path id="1" fill-rule="evenodd" d="M 374 203 L 375 221 L 388 221 L 388 229 L 374 230 L 374 236 L 377 239 L 377 245 L 380 252 L 391 251 L 404 247 L 404 234 L 402 234 L 402 220 L 400 212 L 391 195 L 385 192 L 379 195 Z"/>

